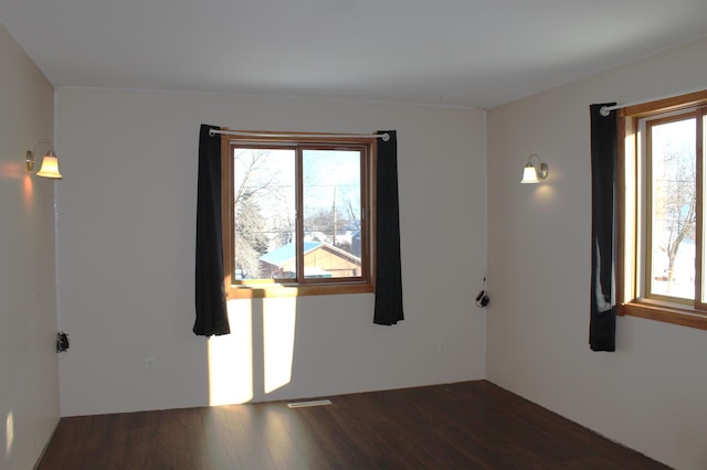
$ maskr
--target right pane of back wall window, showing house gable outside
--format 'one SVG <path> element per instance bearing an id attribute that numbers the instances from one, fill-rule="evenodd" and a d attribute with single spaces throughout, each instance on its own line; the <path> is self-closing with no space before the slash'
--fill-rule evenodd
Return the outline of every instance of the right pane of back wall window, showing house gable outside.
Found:
<path id="1" fill-rule="evenodd" d="M 361 152 L 304 150 L 305 278 L 361 276 Z"/>

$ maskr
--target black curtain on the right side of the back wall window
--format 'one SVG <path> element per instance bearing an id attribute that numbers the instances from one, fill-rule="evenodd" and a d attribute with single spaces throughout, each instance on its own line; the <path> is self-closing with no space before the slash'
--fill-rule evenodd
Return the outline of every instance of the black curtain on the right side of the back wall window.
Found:
<path id="1" fill-rule="evenodd" d="M 376 308 L 373 323 L 395 324 L 402 313 L 402 269 L 400 265 L 400 214 L 398 210 L 398 142 L 378 139 L 376 182 Z"/>

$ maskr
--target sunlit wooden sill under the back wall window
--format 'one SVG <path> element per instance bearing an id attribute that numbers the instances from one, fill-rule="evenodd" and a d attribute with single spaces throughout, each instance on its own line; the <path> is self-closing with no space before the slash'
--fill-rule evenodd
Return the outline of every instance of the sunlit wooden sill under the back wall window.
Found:
<path id="1" fill-rule="evenodd" d="M 331 296 L 341 293 L 367 293 L 373 292 L 373 285 L 370 282 L 339 284 L 336 286 L 310 285 L 310 286 L 231 286 L 226 290 L 226 299 L 266 299 L 281 297 L 300 296 Z"/>

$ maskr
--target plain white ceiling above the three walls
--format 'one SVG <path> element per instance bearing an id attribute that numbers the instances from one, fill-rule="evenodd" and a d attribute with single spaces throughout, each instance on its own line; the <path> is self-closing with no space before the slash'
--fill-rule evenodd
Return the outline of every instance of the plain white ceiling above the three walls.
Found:
<path id="1" fill-rule="evenodd" d="M 0 0 L 57 87 L 490 108 L 707 35 L 706 0 Z"/>

